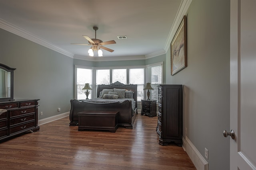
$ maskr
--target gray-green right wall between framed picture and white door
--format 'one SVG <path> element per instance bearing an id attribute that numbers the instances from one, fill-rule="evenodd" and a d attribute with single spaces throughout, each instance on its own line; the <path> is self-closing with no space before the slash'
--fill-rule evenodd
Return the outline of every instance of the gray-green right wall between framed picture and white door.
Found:
<path id="1" fill-rule="evenodd" d="M 229 169 L 230 1 L 193 0 L 187 14 L 188 66 L 166 84 L 184 84 L 184 128 L 209 170 Z M 170 50 L 166 54 L 170 63 Z M 170 72 L 170 66 L 166 68 Z"/>

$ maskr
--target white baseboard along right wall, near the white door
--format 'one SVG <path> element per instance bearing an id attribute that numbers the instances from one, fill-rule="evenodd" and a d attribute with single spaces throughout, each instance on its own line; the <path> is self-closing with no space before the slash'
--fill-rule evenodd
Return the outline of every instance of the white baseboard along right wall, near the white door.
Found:
<path id="1" fill-rule="evenodd" d="M 208 170 L 208 162 L 204 159 L 204 157 L 200 154 L 200 152 L 196 149 L 188 137 L 185 139 L 182 137 L 182 141 L 182 147 L 187 152 L 196 169 Z"/>

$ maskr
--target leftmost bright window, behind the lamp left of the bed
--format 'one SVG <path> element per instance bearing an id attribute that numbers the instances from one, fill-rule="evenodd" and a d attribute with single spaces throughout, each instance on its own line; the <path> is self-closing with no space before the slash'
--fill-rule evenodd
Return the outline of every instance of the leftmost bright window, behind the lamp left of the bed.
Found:
<path id="1" fill-rule="evenodd" d="M 92 69 L 76 68 L 76 98 L 78 100 L 86 99 L 85 90 L 82 90 L 86 83 L 89 83 L 92 88 Z M 88 98 L 91 98 L 91 93 Z"/>

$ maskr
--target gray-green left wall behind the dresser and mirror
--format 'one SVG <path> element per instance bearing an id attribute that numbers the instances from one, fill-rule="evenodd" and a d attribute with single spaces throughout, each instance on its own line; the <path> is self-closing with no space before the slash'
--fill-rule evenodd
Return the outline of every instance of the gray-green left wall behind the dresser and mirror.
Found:
<path id="1" fill-rule="evenodd" d="M 0 37 L 0 63 L 16 68 L 14 99 L 40 99 L 39 119 L 69 111 L 73 59 L 3 29 Z"/>

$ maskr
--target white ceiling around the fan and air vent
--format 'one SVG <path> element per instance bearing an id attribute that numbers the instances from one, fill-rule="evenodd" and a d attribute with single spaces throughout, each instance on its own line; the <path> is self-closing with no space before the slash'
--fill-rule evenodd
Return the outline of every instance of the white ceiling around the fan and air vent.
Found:
<path id="1" fill-rule="evenodd" d="M 105 45 L 114 52 L 102 50 L 103 57 L 148 57 L 166 53 L 182 2 L 184 0 L 0 0 L 0 27 L 5 25 L 2 28 L 6 30 L 15 27 L 70 57 L 81 58 L 88 56 L 90 46 L 70 43 L 88 43 L 82 35 L 95 38 L 92 27 L 97 26 L 97 39 L 116 41 L 116 44 Z M 120 35 L 128 39 L 118 39 Z"/>

